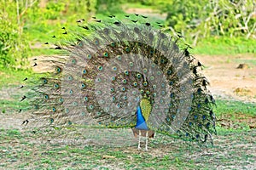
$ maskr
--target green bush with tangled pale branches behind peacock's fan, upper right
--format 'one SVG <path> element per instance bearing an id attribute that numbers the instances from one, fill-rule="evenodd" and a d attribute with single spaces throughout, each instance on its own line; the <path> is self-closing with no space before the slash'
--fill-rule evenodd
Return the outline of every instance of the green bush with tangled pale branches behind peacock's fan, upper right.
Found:
<path id="1" fill-rule="evenodd" d="M 166 25 L 186 37 L 253 37 L 255 21 L 253 0 L 230 1 L 177 0 L 159 3 L 167 12 Z M 255 37 L 254 37 L 255 38 Z"/>

